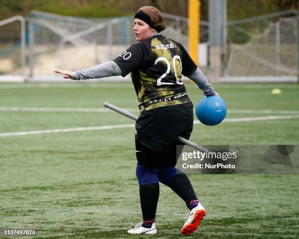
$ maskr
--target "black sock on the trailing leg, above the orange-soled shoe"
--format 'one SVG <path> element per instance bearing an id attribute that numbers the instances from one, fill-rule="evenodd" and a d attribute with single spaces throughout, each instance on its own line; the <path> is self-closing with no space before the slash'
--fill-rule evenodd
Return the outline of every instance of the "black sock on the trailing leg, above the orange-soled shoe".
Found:
<path id="1" fill-rule="evenodd" d="M 190 201 L 197 200 L 191 182 L 184 173 L 174 175 L 167 186 L 186 202 L 187 207 Z"/>

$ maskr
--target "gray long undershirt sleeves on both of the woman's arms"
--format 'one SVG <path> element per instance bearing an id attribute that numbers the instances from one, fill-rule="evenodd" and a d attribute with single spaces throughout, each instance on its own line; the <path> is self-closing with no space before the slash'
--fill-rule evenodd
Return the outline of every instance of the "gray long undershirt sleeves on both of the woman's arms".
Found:
<path id="1" fill-rule="evenodd" d="M 114 61 L 107 61 L 85 70 L 75 71 L 74 80 L 120 76 L 121 74 L 122 70 Z M 212 85 L 209 83 L 202 71 L 198 69 L 198 67 L 191 75 L 187 77 L 197 84 L 198 88 L 204 92 L 205 96 L 213 96 L 216 93 Z"/>

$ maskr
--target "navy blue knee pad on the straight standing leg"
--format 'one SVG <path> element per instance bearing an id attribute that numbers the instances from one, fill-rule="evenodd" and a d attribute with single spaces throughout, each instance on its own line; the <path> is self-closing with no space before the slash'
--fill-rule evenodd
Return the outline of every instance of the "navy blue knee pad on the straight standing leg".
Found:
<path id="1" fill-rule="evenodd" d="M 158 169 L 146 168 L 137 163 L 136 176 L 139 182 L 139 186 L 149 183 L 159 183 L 159 179 L 157 176 L 158 171 Z"/>

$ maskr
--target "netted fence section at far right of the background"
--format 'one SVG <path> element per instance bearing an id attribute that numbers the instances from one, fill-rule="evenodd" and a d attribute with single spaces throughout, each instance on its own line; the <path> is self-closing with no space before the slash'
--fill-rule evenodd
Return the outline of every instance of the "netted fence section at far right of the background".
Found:
<path id="1" fill-rule="evenodd" d="M 240 25 L 228 28 L 229 56 L 224 75 L 296 78 L 299 75 L 299 18 L 256 22 L 255 26 L 260 27 L 261 33 L 252 33 Z"/>

